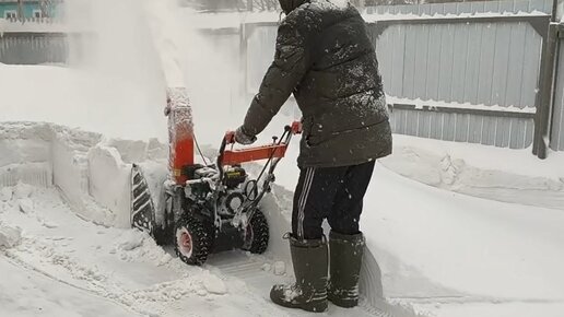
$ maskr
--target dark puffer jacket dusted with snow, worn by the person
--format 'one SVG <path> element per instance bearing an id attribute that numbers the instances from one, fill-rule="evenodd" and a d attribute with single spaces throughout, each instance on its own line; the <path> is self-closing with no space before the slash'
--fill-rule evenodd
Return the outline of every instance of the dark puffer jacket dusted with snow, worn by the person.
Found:
<path id="1" fill-rule="evenodd" d="M 303 114 L 301 167 L 356 165 L 391 153 L 378 61 L 354 7 L 312 0 L 282 21 L 245 131 L 260 133 L 292 93 Z"/>

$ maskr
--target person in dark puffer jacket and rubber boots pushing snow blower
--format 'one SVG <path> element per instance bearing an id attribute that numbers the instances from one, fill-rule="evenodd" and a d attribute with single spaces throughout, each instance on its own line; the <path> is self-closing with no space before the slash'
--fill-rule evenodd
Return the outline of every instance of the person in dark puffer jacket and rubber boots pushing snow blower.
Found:
<path id="1" fill-rule="evenodd" d="M 275 285 L 272 301 L 325 312 L 327 301 L 353 307 L 364 237 L 363 198 L 375 161 L 391 153 L 391 130 L 378 61 L 359 11 L 344 0 L 280 0 L 286 14 L 274 61 L 235 139 L 256 140 L 293 93 L 304 133 L 290 248 L 296 282 Z M 327 219 L 328 244 L 321 228 Z"/>

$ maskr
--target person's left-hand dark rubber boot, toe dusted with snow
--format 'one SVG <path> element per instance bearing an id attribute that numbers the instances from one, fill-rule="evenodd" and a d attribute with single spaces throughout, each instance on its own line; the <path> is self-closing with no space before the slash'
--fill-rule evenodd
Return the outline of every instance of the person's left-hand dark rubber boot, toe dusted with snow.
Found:
<path id="1" fill-rule="evenodd" d="M 270 291 L 270 298 L 280 306 L 322 313 L 328 305 L 327 240 L 325 236 L 310 240 L 298 240 L 289 236 L 289 239 L 296 282 L 274 285 Z"/>

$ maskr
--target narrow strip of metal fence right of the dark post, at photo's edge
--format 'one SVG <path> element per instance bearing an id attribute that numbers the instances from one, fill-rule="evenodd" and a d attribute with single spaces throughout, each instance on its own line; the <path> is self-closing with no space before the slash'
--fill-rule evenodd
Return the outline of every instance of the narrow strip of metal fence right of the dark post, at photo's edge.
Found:
<path id="1" fill-rule="evenodd" d="M 564 151 L 564 39 L 560 40 L 555 92 L 551 148 L 552 150 Z"/>

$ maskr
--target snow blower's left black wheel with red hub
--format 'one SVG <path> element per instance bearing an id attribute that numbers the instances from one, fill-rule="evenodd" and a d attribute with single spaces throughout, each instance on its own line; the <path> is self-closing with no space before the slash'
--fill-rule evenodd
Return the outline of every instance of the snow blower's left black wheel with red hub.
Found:
<path id="1" fill-rule="evenodd" d="M 176 224 L 175 250 L 187 265 L 201 266 L 208 259 L 212 237 L 210 230 L 202 221 L 191 214 L 185 214 Z"/>

